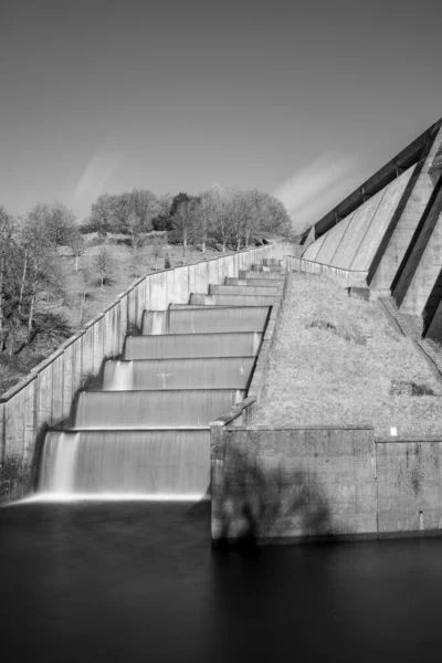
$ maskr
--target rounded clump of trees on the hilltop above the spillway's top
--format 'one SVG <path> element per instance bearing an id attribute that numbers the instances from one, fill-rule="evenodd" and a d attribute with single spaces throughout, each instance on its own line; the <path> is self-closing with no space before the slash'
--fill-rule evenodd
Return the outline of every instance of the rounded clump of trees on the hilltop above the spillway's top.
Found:
<path id="1" fill-rule="evenodd" d="M 145 233 L 167 231 L 170 243 L 187 248 L 208 246 L 219 251 L 240 251 L 266 233 L 291 234 L 291 220 L 284 204 L 256 189 L 223 189 L 217 185 L 197 196 L 180 192 L 155 196 L 148 189 L 117 196 L 105 193 L 93 203 L 83 232 L 123 233 L 134 249 Z"/>

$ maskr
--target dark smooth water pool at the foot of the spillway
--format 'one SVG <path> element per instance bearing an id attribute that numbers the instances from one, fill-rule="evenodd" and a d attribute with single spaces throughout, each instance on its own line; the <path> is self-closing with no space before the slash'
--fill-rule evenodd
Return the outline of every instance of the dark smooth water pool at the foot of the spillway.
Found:
<path id="1" fill-rule="evenodd" d="M 4 661 L 442 655 L 436 538 L 213 551 L 208 502 L 29 502 L 0 508 L 0 579 Z"/>

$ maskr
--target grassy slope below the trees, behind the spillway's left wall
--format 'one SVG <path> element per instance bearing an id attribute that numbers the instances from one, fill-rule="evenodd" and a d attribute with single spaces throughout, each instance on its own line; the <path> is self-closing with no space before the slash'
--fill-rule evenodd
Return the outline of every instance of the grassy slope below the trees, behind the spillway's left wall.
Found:
<path id="1" fill-rule="evenodd" d="M 10 357 L 0 352 L 0 393 L 10 389 L 33 366 L 51 355 L 63 340 L 80 330 L 87 320 L 91 320 L 110 305 L 117 298 L 118 294 L 124 292 L 136 278 L 155 271 L 155 257 L 150 245 L 143 246 L 135 253 L 125 244 L 110 242 L 109 251 L 114 260 L 112 282 L 104 290 L 99 286 L 87 285 L 88 296 L 83 319 L 81 319 L 80 293 L 82 291 L 82 274 L 86 272 L 93 274 L 94 255 L 98 250 L 98 246 L 94 246 L 92 243 L 94 236 L 86 235 L 88 246 L 80 260 L 78 272 L 75 271 L 75 259 L 70 254 L 70 251 L 63 248 L 60 250 L 61 267 L 65 276 L 63 303 L 57 307 L 53 307 L 51 302 L 48 303 L 50 313 L 54 317 L 48 318 L 48 328 L 40 333 L 32 344 L 23 349 L 20 355 Z M 114 241 L 118 236 L 113 238 Z M 172 267 L 181 264 L 182 251 L 179 245 L 166 245 L 166 252 L 169 254 Z M 207 253 L 202 254 L 191 246 L 187 251 L 186 262 L 203 260 L 204 255 L 207 259 L 210 259 L 222 254 L 211 249 L 208 249 Z M 165 260 L 162 256 L 158 260 L 158 270 L 162 270 L 164 265 Z M 42 311 L 44 311 L 44 305 Z"/>

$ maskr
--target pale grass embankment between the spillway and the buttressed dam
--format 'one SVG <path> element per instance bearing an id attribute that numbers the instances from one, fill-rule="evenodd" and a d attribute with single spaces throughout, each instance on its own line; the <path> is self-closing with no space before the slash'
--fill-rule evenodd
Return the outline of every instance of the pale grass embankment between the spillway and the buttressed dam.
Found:
<path id="1" fill-rule="evenodd" d="M 434 396 L 398 393 L 401 382 Z M 325 277 L 294 273 L 266 396 L 252 424 L 368 424 L 378 435 L 389 435 L 391 427 L 399 435 L 442 434 L 442 383 L 380 303 L 349 297 Z"/>

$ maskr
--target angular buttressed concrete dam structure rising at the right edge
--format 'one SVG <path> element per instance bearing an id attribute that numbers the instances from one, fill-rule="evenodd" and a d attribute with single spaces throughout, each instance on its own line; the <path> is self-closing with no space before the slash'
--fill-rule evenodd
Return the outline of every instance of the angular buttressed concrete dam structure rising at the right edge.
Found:
<path id="1" fill-rule="evenodd" d="M 312 239 L 315 238 L 314 241 Z M 311 243 L 308 243 L 311 242 Z M 442 301 L 442 119 L 303 233 L 299 261 L 366 272 L 378 295 L 423 316 L 439 339 Z M 433 322 L 434 319 L 434 322 Z M 439 325 L 439 323 L 438 323 Z"/>

